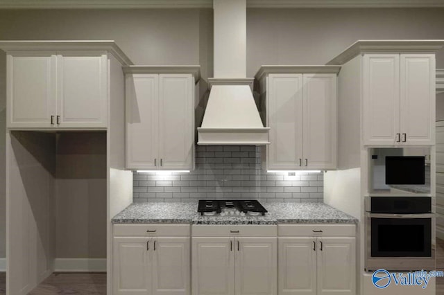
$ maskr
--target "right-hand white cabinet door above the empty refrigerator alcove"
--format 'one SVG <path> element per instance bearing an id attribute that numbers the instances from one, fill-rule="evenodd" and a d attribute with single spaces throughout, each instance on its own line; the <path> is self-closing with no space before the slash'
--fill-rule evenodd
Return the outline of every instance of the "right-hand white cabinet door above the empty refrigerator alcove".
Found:
<path id="1" fill-rule="evenodd" d="M 108 126 L 107 55 L 58 55 L 57 110 L 59 127 Z"/>

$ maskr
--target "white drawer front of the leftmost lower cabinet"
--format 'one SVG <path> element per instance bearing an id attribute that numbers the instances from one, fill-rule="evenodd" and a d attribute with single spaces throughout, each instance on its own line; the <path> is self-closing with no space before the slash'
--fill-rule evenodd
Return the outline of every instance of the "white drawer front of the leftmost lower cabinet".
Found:
<path id="1" fill-rule="evenodd" d="M 114 236 L 189 236 L 189 224 L 114 224 Z"/>

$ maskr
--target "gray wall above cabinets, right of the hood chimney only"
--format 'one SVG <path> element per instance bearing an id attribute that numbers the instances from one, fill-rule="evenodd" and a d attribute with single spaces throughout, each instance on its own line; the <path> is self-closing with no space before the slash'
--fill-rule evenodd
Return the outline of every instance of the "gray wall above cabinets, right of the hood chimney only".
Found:
<path id="1" fill-rule="evenodd" d="M 358 39 L 444 39 L 444 9 L 249 9 L 247 75 L 262 64 L 325 64 Z M 444 68 L 444 51 L 437 55 Z"/>

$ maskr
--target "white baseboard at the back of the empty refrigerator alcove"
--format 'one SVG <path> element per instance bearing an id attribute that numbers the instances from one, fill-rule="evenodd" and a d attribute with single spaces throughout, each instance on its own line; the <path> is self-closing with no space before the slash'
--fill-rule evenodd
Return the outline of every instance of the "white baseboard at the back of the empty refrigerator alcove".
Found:
<path id="1" fill-rule="evenodd" d="M 55 272 L 106 272 L 106 259 L 56 258 Z"/>

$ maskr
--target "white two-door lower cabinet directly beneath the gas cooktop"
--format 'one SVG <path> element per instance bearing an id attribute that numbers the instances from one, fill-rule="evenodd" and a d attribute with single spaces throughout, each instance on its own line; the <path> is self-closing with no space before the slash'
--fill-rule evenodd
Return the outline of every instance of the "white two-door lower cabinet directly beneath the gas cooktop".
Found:
<path id="1" fill-rule="evenodd" d="M 207 228 L 205 228 L 207 227 Z M 277 294 L 277 238 L 275 227 L 265 229 L 264 235 L 251 235 L 249 226 L 201 226 L 200 231 L 223 237 L 193 236 L 192 290 L 194 295 L 275 295 Z M 256 226 L 253 226 L 253 228 Z M 253 229 L 254 234 L 260 227 Z M 273 229 L 274 228 L 274 229 Z M 229 230 L 230 229 L 230 230 Z M 195 231 L 193 231 L 194 235 Z M 205 233 L 203 233 L 205 235 Z"/>

